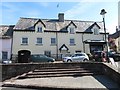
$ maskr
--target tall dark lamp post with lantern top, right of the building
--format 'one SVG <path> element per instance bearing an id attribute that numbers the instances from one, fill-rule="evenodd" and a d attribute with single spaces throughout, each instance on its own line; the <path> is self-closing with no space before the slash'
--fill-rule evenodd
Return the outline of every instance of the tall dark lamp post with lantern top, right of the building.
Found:
<path id="1" fill-rule="evenodd" d="M 106 14 L 107 12 L 105 11 L 105 9 L 102 9 L 101 10 L 101 12 L 100 12 L 100 15 L 102 15 L 102 18 L 103 18 L 103 25 L 104 25 L 104 33 L 105 33 L 105 38 L 104 38 L 104 40 L 105 40 L 105 42 L 106 42 L 106 52 L 107 52 L 107 58 L 108 58 L 108 44 L 107 44 L 107 37 L 106 37 L 106 28 L 105 28 L 105 14 Z"/>

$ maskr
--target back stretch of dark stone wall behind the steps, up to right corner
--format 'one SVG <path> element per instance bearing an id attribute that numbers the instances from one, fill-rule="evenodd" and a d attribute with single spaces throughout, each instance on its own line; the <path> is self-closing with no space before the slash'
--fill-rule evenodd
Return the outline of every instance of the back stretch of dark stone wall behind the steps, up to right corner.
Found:
<path id="1" fill-rule="evenodd" d="M 35 69 L 41 69 L 44 67 L 62 67 L 62 68 L 72 68 L 75 66 L 83 68 L 95 68 L 101 70 L 102 63 L 14 63 L 14 64 L 2 64 L 2 81 L 33 71 Z"/>

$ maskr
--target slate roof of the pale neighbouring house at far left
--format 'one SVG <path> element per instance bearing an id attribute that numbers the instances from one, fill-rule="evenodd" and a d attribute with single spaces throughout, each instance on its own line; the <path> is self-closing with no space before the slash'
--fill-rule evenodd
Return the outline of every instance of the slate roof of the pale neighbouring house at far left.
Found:
<path id="1" fill-rule="evenodd" d="M 15 25 L 0 25 L 0 38 L 10 38 L 13 36 Z"/>

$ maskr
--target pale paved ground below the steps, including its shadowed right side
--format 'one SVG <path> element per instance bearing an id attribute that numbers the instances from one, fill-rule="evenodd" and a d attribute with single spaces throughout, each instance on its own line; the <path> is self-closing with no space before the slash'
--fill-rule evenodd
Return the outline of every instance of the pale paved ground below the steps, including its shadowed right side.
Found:
<path id="1" fill-rule="evenodd" d="M 113 82 L 110 78 L 106 77 L 105 75 L 81 76 L 81 77 L 27 78 L 27 79 L 16 79 L 16 80 L 10 79 L 4 81 L 3 84 L 9 86 L 13 85 L 15 87 L 17 86 L 19 87 L 26 86 L 28 88 L 32 87 L 33 88 L 32 90 L 34 90 L 34 87 L 37 88 L 55 87 L 55 88 L 72 88 L 72 89 L 81 89 L 81 88 L 116 89 L 116 90 L 120 89 L 118 84 Z"/>

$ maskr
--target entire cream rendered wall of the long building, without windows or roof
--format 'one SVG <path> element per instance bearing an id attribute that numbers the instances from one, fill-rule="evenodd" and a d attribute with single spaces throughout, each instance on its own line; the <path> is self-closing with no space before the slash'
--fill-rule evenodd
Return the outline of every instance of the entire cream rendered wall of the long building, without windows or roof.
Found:
<path id="1" fill-rule="evenodd" d="M 21 38 L 28 37 L 28 45 L 21 45 Z M 40 37 L 43 40 L 43 45 L 36 45 L 36 38 Z M 44 54 L 44 51 L 51 51 L 51 54 L 56 54 L 56 45 L 51 45 L 51 38 L 56 38 L 55 32 L 21 32 L 14 31 L 13 34 L 13 54 L 18 54 L 19 50 L 29 50 L 31 54 Z M 70 45 L 70 38 L 75 39 L 75 44 Z M 103 40 L 103 35 L 93 35 L 93 34 L 84 34 L 83 41 L 91 39 L 91 40 Z M 76 50 L 84 51 L 83 42 L 82 42 L 82 33 L 58 33 L 58 49 L 65 44 L 70 53 L 75 53 Z M 59 50 L 58 50 L 59 51 Z M 90 53 L 89 44 L 85 45 L 85 52 Z M 60 51 L 58 52 L 60 54 Z"/>

